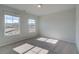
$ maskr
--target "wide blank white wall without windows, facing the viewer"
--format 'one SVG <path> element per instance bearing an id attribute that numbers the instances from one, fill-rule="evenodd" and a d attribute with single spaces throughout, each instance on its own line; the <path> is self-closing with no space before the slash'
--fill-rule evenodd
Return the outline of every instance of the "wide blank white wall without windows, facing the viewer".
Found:
<path id="1" fill-rule="evenodd" d="M 75 8 L 41 16 L 40 35 L 75 42 Z"/>

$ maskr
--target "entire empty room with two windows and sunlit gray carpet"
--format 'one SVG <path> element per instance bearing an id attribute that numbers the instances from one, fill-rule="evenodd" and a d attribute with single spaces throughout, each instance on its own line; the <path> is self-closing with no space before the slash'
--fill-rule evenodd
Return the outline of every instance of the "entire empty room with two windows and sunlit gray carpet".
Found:
<path id="1" fill-rule="evenodd" d="M 0 54 L 78 54 L 79 5 L 0 4 Z"/>

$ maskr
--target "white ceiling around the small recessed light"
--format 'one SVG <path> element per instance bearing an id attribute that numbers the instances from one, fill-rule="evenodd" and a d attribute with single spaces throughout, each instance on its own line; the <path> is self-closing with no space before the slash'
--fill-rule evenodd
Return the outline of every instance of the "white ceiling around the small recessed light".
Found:
<path id="1" fill-rule="evenodd" d="M 7 6 L 24 10 L 27 13 L 37 16 L 47 15 L 75 7 L 75 5 L 71 4 L 43 4 L 42 8 L 38 8 L 37 4 L 7 4 Z"/>

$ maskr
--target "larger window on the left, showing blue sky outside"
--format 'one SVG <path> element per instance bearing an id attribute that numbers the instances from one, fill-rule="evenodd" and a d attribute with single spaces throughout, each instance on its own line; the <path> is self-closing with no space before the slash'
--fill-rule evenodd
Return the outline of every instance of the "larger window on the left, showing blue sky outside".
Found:
<path id="1" fill-rule="evenodd" d="M 4 15 L 5 19 L 5 35 L 16 35 L 20 33 L 20 17 L 12 15 Z"/>

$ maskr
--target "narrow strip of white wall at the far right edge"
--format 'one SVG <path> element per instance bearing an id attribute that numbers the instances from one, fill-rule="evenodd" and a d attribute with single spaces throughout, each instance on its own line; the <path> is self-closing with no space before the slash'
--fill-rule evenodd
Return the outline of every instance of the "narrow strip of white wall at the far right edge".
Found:
<path id="1" fill-rule="evenodd" d="M 76 45 L 79 52 L 79 5 L 76 6 Z"/>

